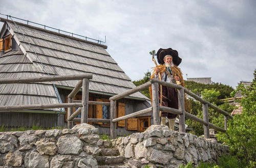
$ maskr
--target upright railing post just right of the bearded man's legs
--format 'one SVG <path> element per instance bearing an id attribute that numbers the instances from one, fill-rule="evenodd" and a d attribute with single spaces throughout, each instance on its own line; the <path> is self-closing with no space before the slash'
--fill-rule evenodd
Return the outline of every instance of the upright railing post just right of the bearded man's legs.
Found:
<path id="1" fill-rule="evenodd" d="M 179 110 L 182 111 L 179 122 L 179 132 L 186 132 L 185 128 L 185 101 L 184 101 L 184 88 L 178 90 Z"/>

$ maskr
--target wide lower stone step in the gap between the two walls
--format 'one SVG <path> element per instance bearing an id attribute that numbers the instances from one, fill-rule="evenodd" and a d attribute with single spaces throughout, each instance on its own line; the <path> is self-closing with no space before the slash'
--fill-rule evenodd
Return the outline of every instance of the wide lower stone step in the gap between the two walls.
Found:
<path id="1" fill-rule="evenodd" d="M 123 163 L 125 157 L 124 156 L 96 156 L 98 161 L 98 165 L 111 165 L 111 164 L 119 164 Z"/>

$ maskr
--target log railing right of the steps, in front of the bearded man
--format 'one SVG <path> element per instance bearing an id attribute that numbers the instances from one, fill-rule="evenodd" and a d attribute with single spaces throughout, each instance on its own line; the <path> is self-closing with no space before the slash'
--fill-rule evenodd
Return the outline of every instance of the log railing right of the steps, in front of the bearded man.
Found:
<path id="1" fill-rule="evenodd" d="M 170 107 L 165 107 L 165 106 L 160 106 L 159 105 L 159 93 L 158 93 L 158 86 L 159 85 L 163 85 L 163 86 L 167 86 L 167 87 L 172 87 L 177 89 L 178 91 L 178 100 L 179 100 L 179 109 L 175 109 L 175 108 L 170 108 Z M 125 96 L 129 96 L 133 93 L 142 91 L 147 89 L 148 87 L 152 86 L 152 107 L 150 108 L 146 108 L 140 111 L 136 111 L 130 115 L 126 115 L 126 116 L 122 116 L 119 118 L 116 118 L 116 101 L 124 98 Z M 200 119 L 194 115 L 191 115 L 189 113 L 187 113 L 187 111 L 185 111 L 185 103 L 184 103 L 184 93 L 190 95 L 191 97 L 195 98 L 196 100 L 198 100 L 199 102 L 202 103 L 202 108 L 203 108 L 203 119 Z M 221 131 L 221 132 L 225 132 L 227 129 L 227 119 L 230 118 L 232 119 L 232 116 L 229 115 L 226 111 L 224 111 L 223 109 L 220 109 L 219 107 L 215 106 L 214 104 L 211 104 L 209 102 L 207 102 L 206 100 L 202 99 L 201 97 L 197 96 L 196 94 L 194 94 L 193 92 L 189 91 L 186 88 L 183 88 L 182 86 L 173 84 L 173 83 L 168 83 L 168 82 L 164 82 L 161 80 L 157 80 L 157 79 L 151 79 L 150 81 L 144 83 L 143 85 L 140 85 L 134 89 L 128 90 L 124 93 L 120 93 L 118 95 L 115 95 L 113 97 L 110 98 L 110 134 L 111 134 L 111 138 L 115 138 L 116 137 L 116 122 L 121 121 L 121 120 L 125 120 L 125 119 L 130 119 L 130 118 L 134 118 L 136 116 L 140 116 L 142 114 L 147 114 L 147 113 L 152 113 L 153 116 L 153 124 L 159 125 L 160 124 L 160 116 L 159 116 L 159 111 L 166 111 L 168 113 L 173 113 L 173 114 L 177 114 L 180 115 L 179 118 L 179 131 L 180 132 L 185 132 L 185 117 L 194 120 L 196 122 L 199 122 L 201 124 L 203 124 L 204 126 L 204 136 L 205 138 L 209 138 L 210 134 L 209 134 L 209 128 L 213 128 L 217 131 Z M 209 123 L 209 119 L 208 119 L 208 107 L 211 107 L 213 109 L 215 109 L 218 113 L 224 115 L 224 129 L 217 127 L 215 125 L 213 125 L 212 123 Z"/>

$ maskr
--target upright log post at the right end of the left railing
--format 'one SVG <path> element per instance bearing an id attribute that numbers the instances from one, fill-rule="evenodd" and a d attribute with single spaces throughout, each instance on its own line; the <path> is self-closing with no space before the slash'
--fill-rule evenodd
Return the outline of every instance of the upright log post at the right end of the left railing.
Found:
<path id="1" fill-rule="evenodd" d="M 82 79 L 82 110 L 81 123 L 88 123 L 88 105 L 89 105 L 89 79 Z"/>

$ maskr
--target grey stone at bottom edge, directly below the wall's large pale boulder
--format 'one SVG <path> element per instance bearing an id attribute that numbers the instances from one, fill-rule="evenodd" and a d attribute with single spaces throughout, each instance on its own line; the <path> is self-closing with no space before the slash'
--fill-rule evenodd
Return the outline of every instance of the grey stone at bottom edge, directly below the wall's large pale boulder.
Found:
<path id="1" fill-rule="evenodd" d="M 56 155 L 51 160 L 51 168 L 69 168 L 74 167 L 74 162 L 71 156 Z"/>

